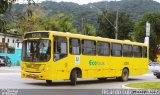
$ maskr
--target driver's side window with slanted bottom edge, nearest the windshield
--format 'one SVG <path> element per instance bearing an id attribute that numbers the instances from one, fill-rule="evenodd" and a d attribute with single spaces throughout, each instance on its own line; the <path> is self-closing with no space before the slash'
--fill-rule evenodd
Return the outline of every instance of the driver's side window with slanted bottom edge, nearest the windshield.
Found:
<path id="1" fill-rule="evenodd" d="M 54 61 L 62 59 L 68 55 L 67 39 L 65 37 L 54 37 Z"/>

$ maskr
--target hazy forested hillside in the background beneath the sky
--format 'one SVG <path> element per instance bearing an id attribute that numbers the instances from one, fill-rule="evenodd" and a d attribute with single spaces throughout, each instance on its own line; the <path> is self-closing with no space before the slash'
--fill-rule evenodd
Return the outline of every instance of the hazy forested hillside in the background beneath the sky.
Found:
<path id="1" fill-rule="evenodd" d="M 32 1 L 32 0 L 28 0 Z M 35 0 L 36 1 L 36 0 Z M 11 14 L 18 21 L 18 17 L 21 18 L 27 10 L 27 4 L 14 4 L 11 8 Z M 94 7 L 91 7 L 94 6 Z M 116 7 L 115 7 L 116 6 Z M 57 14 L 63 13 L 64 15 L 73 15 L 72 22 L 73 27 L 78 31 L 82 30 L 82 18 L 86 18 L 87 23 L 92 24 L 98 29 L 97 18 L 99 11 L 107 10 L 108 12 L 115 11 L 118 8 L 120 12 L 127 13 L 133 20 L 138 20 L 144 13 L 147 12 L 160 12 L 160 4 L 153 0 L 121 0 L 121 1 L 102 1 L 96 3 L 89 3 L 85 5 L 78 5 L 71 2 L 53 2 L 45 1 L 39 3 L 38 6 L 32 6 L 32 10 L 36 11 L 37 15 L 45 16 L 46 18 L 56 16 Z M 30 10 L 27 10 L 30 15 Z M 10 15 L 10 14 L 9 14 Z M 8 21 L 11 22 L 11 17 L 7 17 Z M 14 19 L 15 19 L 14 18 Z"/>

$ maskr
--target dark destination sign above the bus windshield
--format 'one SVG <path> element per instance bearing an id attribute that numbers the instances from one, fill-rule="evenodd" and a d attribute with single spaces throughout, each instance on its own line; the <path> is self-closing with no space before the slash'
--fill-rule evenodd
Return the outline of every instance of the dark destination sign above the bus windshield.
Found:
<path id="1" fill-rule="evenodd" d="M 25 35 L 26 38 L 48 38 L 49 33 L 48 32 L 36 32 L 36 33 L 28 33 Z"/>

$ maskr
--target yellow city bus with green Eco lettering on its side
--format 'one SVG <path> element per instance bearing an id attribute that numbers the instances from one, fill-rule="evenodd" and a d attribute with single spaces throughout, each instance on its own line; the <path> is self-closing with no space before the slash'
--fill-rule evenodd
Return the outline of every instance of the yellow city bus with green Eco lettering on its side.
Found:
<path id="1" fill-rule="evenodd" d="M 45 80 L 77 78 L 105 80 L 148 72 L 148 45 L 58 31 L 34 31 L 24 35 L 21 77 Z"/>

